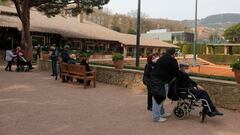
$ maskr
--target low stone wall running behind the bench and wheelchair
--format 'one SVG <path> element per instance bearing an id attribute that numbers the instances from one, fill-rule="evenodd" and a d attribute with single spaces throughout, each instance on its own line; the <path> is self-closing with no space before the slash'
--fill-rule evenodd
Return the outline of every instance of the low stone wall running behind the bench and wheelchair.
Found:
<path id="1" fill-rule="evenodd" d="M 50 62 L 39 62 L 39 70 L 50 71 Z M 94 66 L 97 69 L 97 81 L 112 85 L 118 85 L 137 91 L 146 91 L 142 83 L 142 71 L 137 70 L 116 70 L 112 67 Z M 192 77 L 202 85 L 211 96 L 213 102 L 226 109 L 240 112 L 240 85 L 231 81 L 213 80 L 206 78 Z"/>

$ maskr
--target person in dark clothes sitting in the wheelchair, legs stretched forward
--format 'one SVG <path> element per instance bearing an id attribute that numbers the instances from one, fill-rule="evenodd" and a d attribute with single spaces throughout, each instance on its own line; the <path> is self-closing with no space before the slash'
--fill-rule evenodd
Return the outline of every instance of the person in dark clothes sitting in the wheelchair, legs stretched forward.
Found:
<path id="1" fill-rule="evenodd" d="M 200 85 L 198 85 L 196 82 L 194 82 L 189 77 L 189 65 L 187 63 L 181 63 L 179 65 L 179 75 L 177 76 L 177 90 L 178 93 L 180 91 L 186 91 L 189 90 L 189 93 L 195 96 L 197 99 L 203 99 L 203 101 L 206 101 L 209 107 L 206 107 L 207 109 L 207 115 L 210 117 L 214 117 L 217 115 L 224 115 L 223 113 L 219 112 L 217 108 L 214 106 L 212 100 L 210 99 L 210 96 L 208 93 L 204 90 L 204 88 Z"/>

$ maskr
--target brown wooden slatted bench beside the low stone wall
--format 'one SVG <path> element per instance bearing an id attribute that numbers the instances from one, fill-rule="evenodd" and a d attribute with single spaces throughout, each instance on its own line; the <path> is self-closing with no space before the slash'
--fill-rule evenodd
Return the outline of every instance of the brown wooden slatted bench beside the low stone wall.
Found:
<path id="1" fill-rule="evenodd" d="M 87 88 L 87 82 L 93 81 L 94 88 L 96 87 L 96 70 L 87 72 L 86 67 L 84 65 L 76 65 L 76 64 L 67 64 L 60 63 L 60 76 L 62 81 L 64 81 L 65 76 L 81 79 L 84 82 L 84 89 Z"/>

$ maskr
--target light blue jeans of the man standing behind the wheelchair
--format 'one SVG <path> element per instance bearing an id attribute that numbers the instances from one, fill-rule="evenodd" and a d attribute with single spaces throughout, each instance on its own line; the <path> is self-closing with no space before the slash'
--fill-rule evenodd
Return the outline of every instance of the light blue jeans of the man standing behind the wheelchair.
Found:
<path id="1" fill-rule="evenodd" d="M 167 97 L 168 91 L 169 91 L 169 85 L 164 84 L 164 88 L 165 88 L 166 97 Z M 163 103 L 164 103 L 164 101 L 161 104 L 158 104 L 156 102 L 156 100 L 153 98 L 152 118 L 153 118 L 153 121 L 155 121 L 155 122 L 158 121 L 160 119 L 161 115 L 163 115 L 165 113 Z"/>

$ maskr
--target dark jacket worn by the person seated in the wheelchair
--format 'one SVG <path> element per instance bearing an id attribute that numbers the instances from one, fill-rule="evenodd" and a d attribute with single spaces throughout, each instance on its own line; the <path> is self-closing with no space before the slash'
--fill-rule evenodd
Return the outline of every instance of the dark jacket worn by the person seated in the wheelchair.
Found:
<path id="1" fill-rule="evenodd" d="M 177 76 L 177 88 L 193 88 L 193 87 L 197 87 L 197 83 L 194 82 L 187 73 L 179 71 Z"/>

